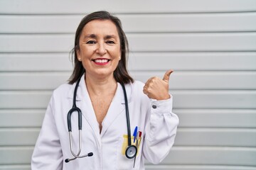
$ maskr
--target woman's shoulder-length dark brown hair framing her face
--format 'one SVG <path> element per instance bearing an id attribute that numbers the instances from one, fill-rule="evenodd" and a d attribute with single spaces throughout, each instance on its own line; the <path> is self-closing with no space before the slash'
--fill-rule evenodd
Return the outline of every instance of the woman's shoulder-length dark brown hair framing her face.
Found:
<path id="1" fill-rule="evenodd" d="M 73 48 L 73 50 L 70 51 L 73 57 L 74 69 L 73 73 L 70 76 L 70 79 L 68 80 L 68 83 L 75 83 L 82 76 L 82 74 L 86 72 L 85 68 L 82 66 L 82 62 L 78 60 L 76 50 L 79 50 L 79 39 L 80 35 L 82 34 L 82 29 L 85 27 L 87 23 L 93 20 L 110 20 L 117 27 L 117 32 L 121 44 L 121 60 L 117 65 L 117 69 L 114 70 L 114 79 L 121 84 L 134 82 L 132 77 L 130 77 L 127 72 L 127 57 L 129 52 L 128 40 L 124 31 L 122 30 L 121 21 L 119 20 L 119 18 L 110 15 L 110 13 L 108 13 L 107 11 L 97 11 L 94 13 L 90 13 L 89 15 L 82 18 L 82 21 L 80 22 L 78 29 L 75 32 L 75 47 Z"/>

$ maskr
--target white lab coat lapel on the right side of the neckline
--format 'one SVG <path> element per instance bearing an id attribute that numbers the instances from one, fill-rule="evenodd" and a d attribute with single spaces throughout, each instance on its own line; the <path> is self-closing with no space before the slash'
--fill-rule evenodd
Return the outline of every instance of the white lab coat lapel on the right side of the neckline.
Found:
<path id="1" fill-rule="evenodd" d="M 126 88 L 127 89 L 127 88 Z M 127 96 L 130 96 L 127 91 Z M 129 103 L 129 97 L 128 97 Z M 117 84 L 117 91 L 114 95 L 112 103 L 110 104 L 110 108 L 107 111 L 107 115 L 105 116 L 102 122 L 102 132 L 100 136 L 103 136 L 110 125 L 114 122 L 117 116 L 122 113 L 125 114 L 125 105 L 124 105 L 124 92 L 122 90 L 121 84 Z"/>

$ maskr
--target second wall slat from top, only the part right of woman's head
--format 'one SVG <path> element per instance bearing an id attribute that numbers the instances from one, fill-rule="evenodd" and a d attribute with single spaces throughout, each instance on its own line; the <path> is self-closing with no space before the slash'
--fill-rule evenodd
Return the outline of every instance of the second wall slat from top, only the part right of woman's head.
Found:
<path id="1" fill-rule="evenodd" d="M 256 13 L 178 13 L 118 17 L 122 21 L 124 31 L 128 33 L 256 30 L 256 24 L 253 22 L 256 20 Z"/>

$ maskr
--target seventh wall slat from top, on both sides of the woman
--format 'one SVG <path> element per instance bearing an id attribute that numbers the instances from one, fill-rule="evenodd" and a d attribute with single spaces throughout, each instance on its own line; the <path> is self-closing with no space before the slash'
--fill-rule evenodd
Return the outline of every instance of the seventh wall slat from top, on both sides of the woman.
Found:
<path id="1" fill-rule="evenodd" d="M 46 110 L 0 110 L 1 128 L 40 128 Z M 179 128 L 256 128 L 256 111 L 240 109 L 174 109 Z M 31 121 L 33 120 L 33 121 Z"/>

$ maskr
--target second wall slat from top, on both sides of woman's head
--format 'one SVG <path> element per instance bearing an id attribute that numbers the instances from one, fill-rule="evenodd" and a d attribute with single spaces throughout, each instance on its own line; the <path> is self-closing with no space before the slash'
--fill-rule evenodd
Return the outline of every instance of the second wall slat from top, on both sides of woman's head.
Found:
<path id="1" fill-rule="evenodd" d="M 0 33 L 75 33 L 82 17 L 4 15 L 0 16 L 0 23 L 4 23 Z M 256 30 L 253 22 L 256 21 L 256 13 L 120 14 L 117 17 L 127 33 Z"/>

